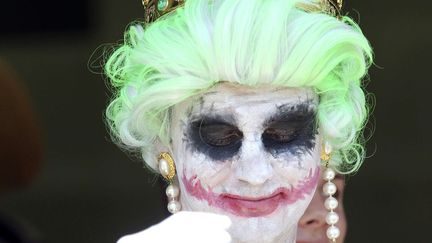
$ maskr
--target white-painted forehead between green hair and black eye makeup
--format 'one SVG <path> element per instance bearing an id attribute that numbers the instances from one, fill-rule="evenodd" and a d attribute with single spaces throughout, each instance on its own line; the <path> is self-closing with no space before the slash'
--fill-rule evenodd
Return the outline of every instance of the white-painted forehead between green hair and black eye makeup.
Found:
<path id="1" fill-rule="evenodd" d="M 289 88 L 222 83 L 206 92 L 200 102 L 193 102 L 193 113 L 224 113 L 240 115 L 242 111 L 274 112 L 281 107 L 307 104 L 315 106 L 317 94 L 311 88 Z M 199 104 L 199 105 L 198 105 Z M 252 114 L 249 114 L 252 115 Z"/>

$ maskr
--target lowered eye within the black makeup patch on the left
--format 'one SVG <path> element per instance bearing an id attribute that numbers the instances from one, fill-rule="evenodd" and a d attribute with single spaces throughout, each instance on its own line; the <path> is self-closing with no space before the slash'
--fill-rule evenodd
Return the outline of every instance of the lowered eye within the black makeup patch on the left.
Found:
<path id="1" fill-rule="evenodd" d="M 237 127 L 224 123 L 201 123 L 199 135 L 204 143 L 214 147 L 231 146 L 243 138 Z"/>

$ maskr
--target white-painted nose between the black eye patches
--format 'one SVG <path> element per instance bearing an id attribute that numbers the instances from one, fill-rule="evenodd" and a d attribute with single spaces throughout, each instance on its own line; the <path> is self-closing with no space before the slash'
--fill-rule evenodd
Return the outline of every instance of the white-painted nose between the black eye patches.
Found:
<path id="1" fill-rule="evenodd" d="M 255 136 L 254 136 L 255 137 Z M 234 164 L 237 179 L 253 186 L 264 184 L 273 174 L 261 139 L 243 139 L 240 158 Z"/>

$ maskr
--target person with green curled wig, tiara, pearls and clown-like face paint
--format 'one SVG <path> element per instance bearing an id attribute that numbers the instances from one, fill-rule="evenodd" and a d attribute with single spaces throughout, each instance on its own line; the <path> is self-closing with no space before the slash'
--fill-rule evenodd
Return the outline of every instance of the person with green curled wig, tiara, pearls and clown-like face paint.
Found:
<path id="1" fill-rule="evenodd" d="M 163 222 L 127 242 L 295 242 L 319 180 L 364 159 L 372 50 L 329 0 L 143 1 L 105 72 L 112 137 L 167 181 Z M 321 173 L 321 166 L 324 167 Z"/>

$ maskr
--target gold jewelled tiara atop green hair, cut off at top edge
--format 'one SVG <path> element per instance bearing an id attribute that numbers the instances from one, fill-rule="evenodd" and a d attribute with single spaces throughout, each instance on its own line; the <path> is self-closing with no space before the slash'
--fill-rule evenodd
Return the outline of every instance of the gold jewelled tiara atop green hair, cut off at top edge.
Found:
<path id="1" fill-rule="evenodd" d="M 184 5 L 186 0 L 142 0 L 144 6 L 144 22 L 154 22 L 164 14 L 174 11 Z M 343 0 L 312 0 L 310 2 L 298 2 L 296 7 L 306 12 L 322 12 L 338 19 L 342 16 Z"/>

